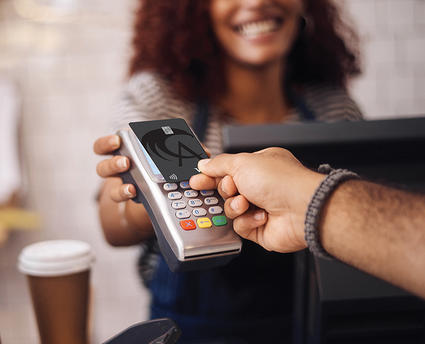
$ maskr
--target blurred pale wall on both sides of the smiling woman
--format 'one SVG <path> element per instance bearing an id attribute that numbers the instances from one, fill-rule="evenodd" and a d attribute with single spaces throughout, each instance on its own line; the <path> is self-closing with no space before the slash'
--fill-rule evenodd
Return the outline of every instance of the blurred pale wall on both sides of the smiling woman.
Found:
<path id="1" fill-rule="evenodd" d="M 362 38 L 364 74 L 352 93 L 366 118 L 425 115 L 425 0 L 337 1 Z M 94 247 L 93 343 L 147 319 L 137 248 L 110 247 L 101 233 L 95 201 L 100 157 L 93 153 L 125 78 L 135 5 L 0 0 L 0 79 L 12 82 L 20 104 L 23 205 L 43 219 L 41 229 L 13 231 L 0 247 L 3 344 L 38 342 L 16 262 L 23 247 L 39 240 L 79 239 Z"/>

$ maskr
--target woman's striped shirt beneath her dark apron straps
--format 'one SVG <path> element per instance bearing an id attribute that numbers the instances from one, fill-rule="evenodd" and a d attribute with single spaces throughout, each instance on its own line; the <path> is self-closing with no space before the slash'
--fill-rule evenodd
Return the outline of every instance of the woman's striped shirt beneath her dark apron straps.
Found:
<path id="1" fill-rule="evenodd" d="M 316 116 L 317 121 L 359 120 L 362 115 L 347 93 L 333 85 L 310 85 L 303 93 L 304 102 Z M 133 76 L 124 86 L 114 111 L 111 133 L 129 127 L 130 122 L 169 118 L 184 118 L 191 125 L 196 104 L 182 100 L 164 77 L 152 72 Z M 210 109 L 205 131 L 204 145 L 214 157 L 223 153 L 222 125 L 232 120 L 221 116 L 214 106 Z M 285 123 L 302 121 L 298 109 L 292 108 Z"/>

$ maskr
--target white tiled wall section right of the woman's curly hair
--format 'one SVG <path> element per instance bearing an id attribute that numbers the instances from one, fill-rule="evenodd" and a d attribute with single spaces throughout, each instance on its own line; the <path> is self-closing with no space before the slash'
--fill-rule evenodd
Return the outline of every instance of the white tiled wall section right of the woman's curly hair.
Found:
<path id="1" fill-rule="evenodd" d="M 364 51 L 353 95 L 366 118 L 425 115 L 425 1 L 349 0 Z"/>

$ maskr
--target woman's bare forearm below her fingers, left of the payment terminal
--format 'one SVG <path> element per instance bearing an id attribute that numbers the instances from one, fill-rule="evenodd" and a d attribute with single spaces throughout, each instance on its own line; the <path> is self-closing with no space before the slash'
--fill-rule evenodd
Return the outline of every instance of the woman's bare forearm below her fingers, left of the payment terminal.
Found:
<path id="1" fill-rule="evenodd" d="M 108 178 L 99 197 L 99 214 L 106 240 L 114 246 L 130 246 L 140 243 L 153 234 L 152 223 L 143 205 L 127 201 L 123 227 L 119 220 L 118 203 L 111 199 L 110 191 L 121 183 L 119 178 Z"/>

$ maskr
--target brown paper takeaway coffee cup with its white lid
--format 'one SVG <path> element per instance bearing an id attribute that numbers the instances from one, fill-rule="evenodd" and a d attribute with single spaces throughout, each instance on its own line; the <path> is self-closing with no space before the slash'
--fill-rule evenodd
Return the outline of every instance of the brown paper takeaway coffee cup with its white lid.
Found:
<path id="1" fill-rule="evenodd" d="M 26 246 L 18 270 L 27 276 L 41 344 L 87 344 L 91 246 L 49 240 Z"/>

